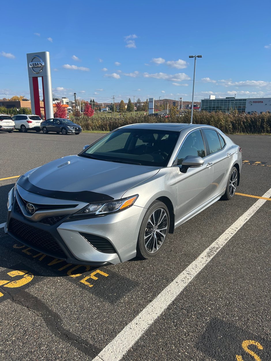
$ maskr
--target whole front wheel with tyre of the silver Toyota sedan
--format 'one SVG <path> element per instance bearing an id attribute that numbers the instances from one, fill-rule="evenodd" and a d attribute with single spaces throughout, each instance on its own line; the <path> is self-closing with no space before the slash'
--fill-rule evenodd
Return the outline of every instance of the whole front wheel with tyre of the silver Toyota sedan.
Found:
<path id="1" fill-rule="evenodd" d="M 164 247 L 169 229 L 167 206 L 155 200 L 147 209 L 139 230 L 137 250 L 141 258 L 152 258 Z"/>

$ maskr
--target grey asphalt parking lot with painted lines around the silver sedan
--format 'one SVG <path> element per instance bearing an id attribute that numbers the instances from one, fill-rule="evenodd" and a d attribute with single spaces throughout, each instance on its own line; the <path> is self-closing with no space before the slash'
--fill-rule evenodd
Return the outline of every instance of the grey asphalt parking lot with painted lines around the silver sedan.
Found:
<path id="1" fill-rule="evenodd" d="M 270 361 L 271 136 L 230 136 L 243 150 L 238 194 L 151 260 L 68 265 L 4 234 L 16 177 L 101 136 L 0 134 L 0 360 Z"/>

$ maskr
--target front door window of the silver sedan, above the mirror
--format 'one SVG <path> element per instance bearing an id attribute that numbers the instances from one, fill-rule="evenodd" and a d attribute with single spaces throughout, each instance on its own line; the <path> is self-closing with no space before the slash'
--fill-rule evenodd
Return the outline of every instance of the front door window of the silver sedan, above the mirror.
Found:
<path id="1" fill-rule="evenodd" d="M 195 130 L 185 138 L 178 152 L 177 163 L 175 164 L 182 165 L 184 158 L 187 156 L 202 158 L 206 156 L 202 135 L 199 130 Z"/>

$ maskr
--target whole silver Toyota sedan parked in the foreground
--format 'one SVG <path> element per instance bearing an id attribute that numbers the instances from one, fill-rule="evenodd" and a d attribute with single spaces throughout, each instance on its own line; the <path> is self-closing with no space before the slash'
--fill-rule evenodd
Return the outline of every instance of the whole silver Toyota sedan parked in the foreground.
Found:
<path id="1" fill-rule="evenodd" d="M 241 148 L 207 125 L 120 127 L 22 175 L 5 232 L 72 264 L 156 256 L 168 233 L 239 184 Z"/>

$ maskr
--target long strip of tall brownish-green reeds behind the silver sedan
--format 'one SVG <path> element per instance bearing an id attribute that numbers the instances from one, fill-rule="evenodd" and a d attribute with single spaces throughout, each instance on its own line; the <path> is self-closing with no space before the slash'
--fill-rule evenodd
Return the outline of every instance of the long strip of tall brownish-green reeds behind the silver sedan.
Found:
<path id="1" fill-rule="evenodd" d="M 120 118 L 108 119 L 106 117 L 89 118 L 81 117 L 76 123 L 81 125 L 83 130 L 104 130 L 111 131 L 118 127 L 134 123 L 190 123 L 191 112 L 188 111 L 183 116 L 173 116 L 171 118 L 156 118 L 150 116 L 123 116 Z M 266 134 L 271 133 L 271 114 L 239 114 L 232 112 L 193 112 L 194 124 L 207 124 L 219 128 L 226 134 Z"/>

